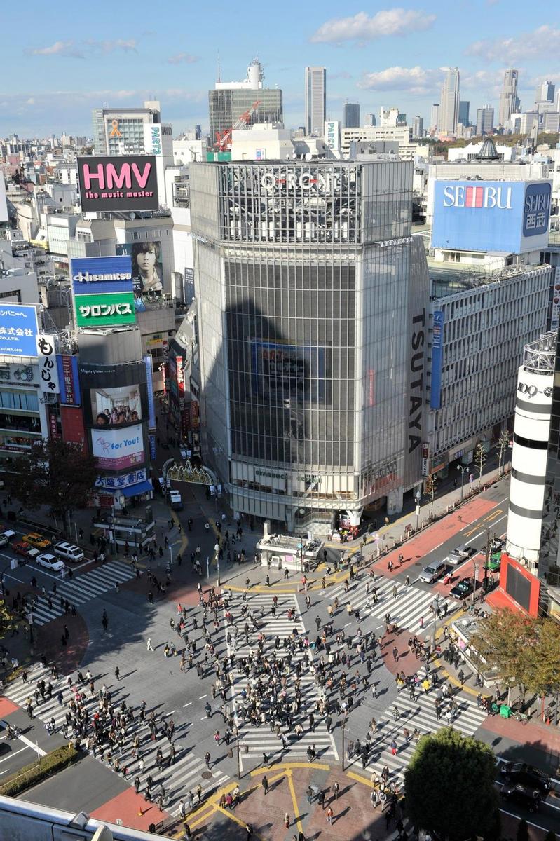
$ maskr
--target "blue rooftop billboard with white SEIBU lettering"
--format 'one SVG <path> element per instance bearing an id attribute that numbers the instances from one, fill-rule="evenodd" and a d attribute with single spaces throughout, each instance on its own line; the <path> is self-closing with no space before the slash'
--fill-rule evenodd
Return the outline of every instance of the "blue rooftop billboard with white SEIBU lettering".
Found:
<path id="1" fill-rule="evenodd" d="M 436 181 L 433 248 L 522 254 L 548 242 L 549 181 Z"/>

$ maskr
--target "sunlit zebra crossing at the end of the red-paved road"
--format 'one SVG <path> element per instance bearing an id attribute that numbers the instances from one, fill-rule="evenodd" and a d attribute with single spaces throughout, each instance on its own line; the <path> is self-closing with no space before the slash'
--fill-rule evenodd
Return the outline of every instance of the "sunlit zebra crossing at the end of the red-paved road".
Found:
<path id="1" fill-rule="evenodd" d="M 377 590 L 377 603 L 373 600 L 373 588 Z M 389 613 L 391 621 L 397 622 L 399 628 L 415 634 L 422 632 L 432 620 L 430 606 L 434 594 L 429 590 L 421 590 L 414 584 L 403 584 L 395 579 L 376 576 L 373 581 L 368 579 L 368 582 L 363 579 L 354 580 L 347 593 L 344 584 L 341 584 L 329 590 L 321 590 L 321 595 L 331 601 L 338 599 L 339 610 L 344 610 L 350 602 L 352 611 L 361 611 L 364 618 L 372 616 L 383 622 L 385 614 Z"/>

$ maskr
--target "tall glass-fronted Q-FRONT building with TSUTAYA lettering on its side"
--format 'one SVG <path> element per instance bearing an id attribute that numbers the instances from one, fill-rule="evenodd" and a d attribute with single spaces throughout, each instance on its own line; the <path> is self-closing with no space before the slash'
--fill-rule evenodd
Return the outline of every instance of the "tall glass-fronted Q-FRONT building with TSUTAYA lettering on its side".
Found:
<path id="1" fill-rule="evenodd" d="M 421 481 L 428 273 L 409 161 L 191 167 L 203 458 L 289 530 Z"/>

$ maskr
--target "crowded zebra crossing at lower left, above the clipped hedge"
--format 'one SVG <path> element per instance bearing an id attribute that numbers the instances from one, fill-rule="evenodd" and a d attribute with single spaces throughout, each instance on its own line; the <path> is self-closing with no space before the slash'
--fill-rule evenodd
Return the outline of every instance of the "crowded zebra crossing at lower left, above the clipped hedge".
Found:
<path id="1" fill-rule="evenodd" d="M 56 725 L 55 732 L 61 733 L 61 729 L 66 723 L 65 717 L 68 702 L 74 697 L 75 690 L 79 690 L 83 693 L 87 711 L 89 713 L 89 720 L 91 722 L 93 713 L 98 709 L 97 691 L 94 695 L 91 695 L 86 684 L 83 684 L 82 686 L 76 684 L 68 685 L 66 678 L 53 680 L 50 677 L 50 670 L 43 669 L 41 667 L 29 670 L 28 675 L 28 683 L 24 684 L 21 680 L 17 680 L 14 685 L 7 687 L 4 695 L 9 698 L 10 701 L 13 701 L 13 703 L 18 704 L 19 706 L 25 706 L 25 701 L 29 696 L 34 701 L 34 690 L 37 682 L 43 679 L 45 680 L 45 683 L 48 684 L 50 680 L 53 687 L 52 696 L 50 699 L 45 696 L 45 700 L 40 699 L 40 701 L 36 704 L 34 701 L 35 719 L 39 719 L 41 722 L 47 722 L 50 717 L 54 717 Z M 121 687 L 117 684 L 108 686 L 108 689 L 111 690 L 112 702 L 116 708 L 119 706 L 121 701 Z M 123 697 L 126 698 L 128 703 L 129 697 L 124 690 L 124 685 L 122 689 Z M 57 699 L 59 691 L 61 691 L 63 695 L 62 704 L 60 704 Z M 137 710 L 135 712 L 137 714 Z M 169 714 L 163 713 L 163 717 L 169 718 L 170 716 Z M 161 723 L 161 715 L 158 715 L 157 722 Z M 189 735 L 187 724 L 180 725 L 176 728 L 174 733 L 175 738 L 173 740 L 173 747 L 176 752 L 175 759 L 170 765 L 163 767 L 162 770 L 157 768 L 156 754 L 158 748 L 161 748 L 164 762 L 166 758 L 169 757 L 170 745 L 167 739 L 162 736 L 158 736 L 158 738 L 152 740 L 150 728 L 147 723 L 140 724 L 137 717 L 135 724 L 130 727 L 130 731 L 132 735 L 130 735 L 127 740 L 126 747 L 122 750 L 122 753 L 119 753 L 119 749 L 117 748 L 114 749 L 113 754 L 119 759 L 121 769 L 127 769 L 125 779 L 130 783 L 130 785 L 134 783 L 136 776 L 140 777 L 140 795 L 142 795 L 145 790 L 145 781 L 147 780 L 148 775 L 151 775 L 154 780 L 154 785 L 152 787 L 152 800 L 156 800 L 160 784 L 164 785 L 166 796 L 163 801 L 163 808 L 169 814 L 174 816 L 178 815 L 179 801 L 181 799 L 184 800 L 188 796 L 189 791 L 193 792 L 194 806 L 197 806 L 197 785 L 202 786 L 202 794 L 203 796 L 206 796 L 211 791 L 225 785 L 230 780 L 230 777 L 222 773 L 221 770 L 214 769 L 212 766 L 210 766 L 210 769 L 208 770 L 204 760 L 193 754 L 192 749 L 188 746 L 188 741 L 191 737 Z M 133 757 L 131 742 L 136 733 L 140 736 L 140 750 L 139 755 Z M 68 735 L 70 736 L 70 733 L 68 733 Z M 105 745 L 104 751 L 106 751 L 107 748 L 108 745 Z M 104 764 L 107 764 L 99 753 L 96 754 L 96 758 L 99 761 L 103 761 Z M 143 771 L 140 771 L 140 758 L 144 760 Z M 206 771 L 210 774 L 209 779 L 204 779 L 203 777 L 203 772 Z M 115 771 L 114 773 L 117 772 Z"/>

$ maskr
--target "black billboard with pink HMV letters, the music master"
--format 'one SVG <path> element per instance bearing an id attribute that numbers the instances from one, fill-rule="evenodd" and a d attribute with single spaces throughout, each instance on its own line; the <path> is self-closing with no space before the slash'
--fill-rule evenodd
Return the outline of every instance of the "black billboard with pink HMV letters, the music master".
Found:
<path id="1" fill-rule="evenodd" d="M 159 209 L 153 155 L 79 157 L 77 172 L 84 213 Z"/>

